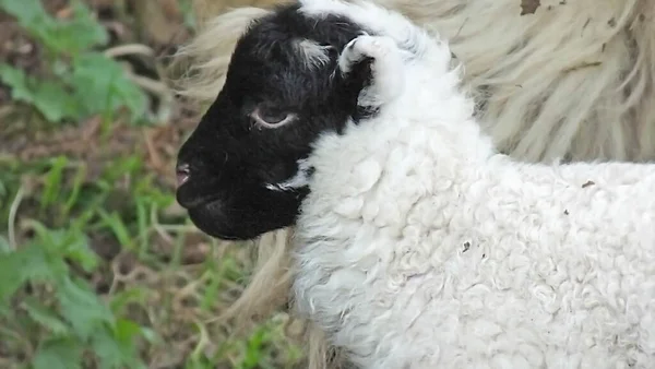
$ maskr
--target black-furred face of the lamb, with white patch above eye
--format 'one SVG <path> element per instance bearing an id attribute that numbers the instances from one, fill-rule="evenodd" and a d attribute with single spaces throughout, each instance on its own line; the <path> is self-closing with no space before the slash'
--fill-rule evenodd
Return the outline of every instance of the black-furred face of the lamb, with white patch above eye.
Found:
<path id="1" fill-rule="evenodd" d="M 335 70 L 361 31 L 338 16 L 307 17 L 297 4 L 253 22 L 223 90 L 178 154 L 177 200 L 201 230 L 251 239 L 294 224 L 307 184 L 270 184 L 294 178 L 320 133 L 341 132 L 356 115 L 369 72 L 361 67 L 344 81 Z"/>

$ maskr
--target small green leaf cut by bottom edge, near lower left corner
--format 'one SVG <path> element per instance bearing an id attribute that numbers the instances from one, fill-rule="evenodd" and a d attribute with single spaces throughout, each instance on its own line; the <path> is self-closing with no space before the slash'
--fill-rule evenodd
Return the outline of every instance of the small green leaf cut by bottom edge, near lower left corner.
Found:
<path id="1" fill-rule="evenodd" d="M 48 340 L 39 345 L 34 369 L 81 369 L 83 347 L 72 338 Z"/>

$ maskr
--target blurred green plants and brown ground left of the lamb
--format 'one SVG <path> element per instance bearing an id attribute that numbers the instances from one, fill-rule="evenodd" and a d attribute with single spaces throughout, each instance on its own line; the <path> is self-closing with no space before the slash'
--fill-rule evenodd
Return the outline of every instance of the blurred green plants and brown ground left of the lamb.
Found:
<path id="1" fill-rule="evenodd" d="M 165 71 L 207 15 L 192 1 L 0 0 L 0 368 L 300 366 L 284 313 L 215 319 L 253 247 L 175 202 L 201 107 Z"/>

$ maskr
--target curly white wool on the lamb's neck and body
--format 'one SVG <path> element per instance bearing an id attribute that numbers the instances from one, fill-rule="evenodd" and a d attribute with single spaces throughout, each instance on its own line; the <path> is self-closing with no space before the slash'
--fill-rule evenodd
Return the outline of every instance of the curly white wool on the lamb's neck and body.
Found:
<path id="1" fill-rule="evenodd" d="M 361 368 L 653 368 L 655 164 L 498 154 L 445 43 L 305 4 L 386 24 L 417 57 L 376 69 L 371 88 L 397 88 L 380 114 L 308 158 L 299 312 Z"/>

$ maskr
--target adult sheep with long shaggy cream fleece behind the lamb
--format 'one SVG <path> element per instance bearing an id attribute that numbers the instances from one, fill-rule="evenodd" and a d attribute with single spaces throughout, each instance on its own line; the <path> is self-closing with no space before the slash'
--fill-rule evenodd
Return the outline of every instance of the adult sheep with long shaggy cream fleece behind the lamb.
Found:
<path id="1" fill-rule="evenodd" d="M 451 40 L 454 53 L 466 66 L 464 82 L 480 102 L 479 122 L 502 152 L 535 162 L 655 156 L 651 139 L 655 109 L 648 104 L 655 79 L 655 24 L 650 21 L 654 3 L 585 0 L 560 5 L 541 1 L 534 14 L 520 15 L 519 0 L 377 2 Z M 225 83 L 237 39 L 252 20 L 275 12 L 242 8 L 211 22 L 178 55 L 193 62 L 181 93 L 213 100 Z M 563 57 L 546 58 L 553 50 Z M 549 140 L 557 135 L 550 132 L 558 130 L 569 133 Z M 266 233 L 248 214 L 241 216 L 253 234 L 262 235 L 258 273 L 228 312 L 248 318 L 265 314 L 285 300 L 293 248 L 286 238 L 294 228 Z M 325 355 L 310 353 L 310 359 L 325 361 Z"/>

